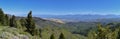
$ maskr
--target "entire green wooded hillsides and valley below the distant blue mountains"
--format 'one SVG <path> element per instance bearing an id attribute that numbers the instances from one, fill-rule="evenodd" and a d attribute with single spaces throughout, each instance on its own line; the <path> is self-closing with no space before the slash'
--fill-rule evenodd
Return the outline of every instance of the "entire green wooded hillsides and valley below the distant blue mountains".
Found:
<path id="1" fill-rule="evenodd" d="M 0 9 L 0 39 L 120 39 L 119 26 L 118 22 L 61 24 L 32 17 L 32 11 L 18 18 Z"/>

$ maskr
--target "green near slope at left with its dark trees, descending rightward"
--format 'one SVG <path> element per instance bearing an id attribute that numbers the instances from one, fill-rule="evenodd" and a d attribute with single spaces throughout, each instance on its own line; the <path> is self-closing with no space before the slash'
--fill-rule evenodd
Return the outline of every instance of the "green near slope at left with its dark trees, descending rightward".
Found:
<path id="1" fill-rule="evenodd" d="M 42 24 L 42 23 L 41 23 Z M 46 24 L 47 25 L 47 24 Z M 72 34 L 59 27 L 40 28 L 32 17 L 30 11 L 25 18 L 16 19 L 15 15 L 9 17 L 0 9 L 0 39 L 85 39 L 86 37 Z"/>

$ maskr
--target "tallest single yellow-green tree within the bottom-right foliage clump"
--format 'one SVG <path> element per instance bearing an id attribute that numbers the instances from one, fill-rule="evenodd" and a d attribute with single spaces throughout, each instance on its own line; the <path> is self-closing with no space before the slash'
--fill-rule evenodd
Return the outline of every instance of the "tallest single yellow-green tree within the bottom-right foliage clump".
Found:
<path id="1" fill-rule="evenodd" d="M 109 29 L 109 26 L 102 27 L 101 24 L 98 24 L 98 29 L 97 29 L 97 39 L 108 39 L 110 35 L 111 30 Z"/>

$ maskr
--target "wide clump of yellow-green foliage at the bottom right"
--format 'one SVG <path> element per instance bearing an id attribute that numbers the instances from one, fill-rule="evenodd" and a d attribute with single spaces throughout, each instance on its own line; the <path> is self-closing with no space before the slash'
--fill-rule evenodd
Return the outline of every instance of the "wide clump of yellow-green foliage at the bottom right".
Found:
<path id="1" fill-rule="evenodd" d="M 98 24 L 97 31 L 89 32 L 88 39 L 116 39 L 118 29 L 111 31 L 109 26 L 102 27 L 101 24 Z"/>

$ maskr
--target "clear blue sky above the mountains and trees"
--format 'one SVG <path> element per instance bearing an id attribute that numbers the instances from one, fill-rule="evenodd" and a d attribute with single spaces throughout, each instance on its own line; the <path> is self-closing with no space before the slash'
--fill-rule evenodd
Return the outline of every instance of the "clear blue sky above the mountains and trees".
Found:
<path id="1" fill-rule="evenodd" d="M 120 0 L 0 0 L 6 14 L 25 16 L 69 14 L 120 15 Z"/>

